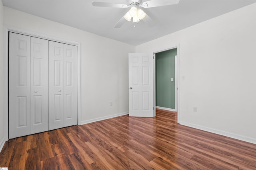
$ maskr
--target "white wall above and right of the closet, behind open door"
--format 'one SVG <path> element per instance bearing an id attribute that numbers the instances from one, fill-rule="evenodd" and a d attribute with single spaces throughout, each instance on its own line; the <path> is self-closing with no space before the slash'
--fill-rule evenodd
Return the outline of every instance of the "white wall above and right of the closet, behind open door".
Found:
<path id="1" fill-rule="evenodd" d="M 128 112 L 128 53 L 134 46 L 7 7 L 4 25 L 81 43 L 82 123 Z"/>

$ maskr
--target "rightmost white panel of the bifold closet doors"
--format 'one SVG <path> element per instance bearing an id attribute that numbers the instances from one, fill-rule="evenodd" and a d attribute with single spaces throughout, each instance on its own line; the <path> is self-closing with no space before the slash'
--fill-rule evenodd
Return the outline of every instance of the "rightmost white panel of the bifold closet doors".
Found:
<path id="1" fill-rule="evenodd" d="M 77 47 L 64 44 L 64 127 L 77 125 Z"/>

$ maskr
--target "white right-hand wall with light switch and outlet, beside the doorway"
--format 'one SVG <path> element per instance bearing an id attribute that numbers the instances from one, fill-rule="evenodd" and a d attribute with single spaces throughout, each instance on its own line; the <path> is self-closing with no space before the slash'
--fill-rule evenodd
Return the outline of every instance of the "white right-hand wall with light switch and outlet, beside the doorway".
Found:
<path id="1" fill-rule="evenodd" d="M 180 44 L 180 123 L 256 143 L 256 4 L 138 45 Z M 197 107 L 197 112 L 193 112 Z"/>

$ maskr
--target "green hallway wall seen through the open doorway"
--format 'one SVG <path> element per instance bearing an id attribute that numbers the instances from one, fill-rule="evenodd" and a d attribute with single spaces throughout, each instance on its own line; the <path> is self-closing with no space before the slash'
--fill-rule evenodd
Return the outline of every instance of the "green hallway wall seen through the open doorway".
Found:
<path id="1" fill-rule="evenodd" d="M 175 109 L 176 55 L 177 49 L 156 53 L 156 106 Z"/>

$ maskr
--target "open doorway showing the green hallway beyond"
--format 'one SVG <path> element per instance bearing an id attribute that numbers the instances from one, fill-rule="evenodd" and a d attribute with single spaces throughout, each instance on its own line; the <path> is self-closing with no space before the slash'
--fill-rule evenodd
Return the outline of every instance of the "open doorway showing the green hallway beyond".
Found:
<path id="1" fill-rule="evenodd" d="M 179 51 L 178 46 L 154 52 L 154 106 L 179 115 Z"/>

